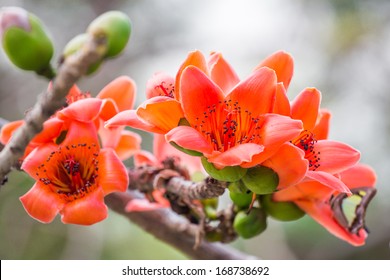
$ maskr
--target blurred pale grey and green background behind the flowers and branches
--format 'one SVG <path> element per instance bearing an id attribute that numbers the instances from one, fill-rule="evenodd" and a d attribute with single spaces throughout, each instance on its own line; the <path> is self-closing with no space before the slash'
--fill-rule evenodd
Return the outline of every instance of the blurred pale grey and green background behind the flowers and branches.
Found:
<path id="1" fill-rule="evenodd" d="M 264 259 L 390 259 L 390 2 L 256 0 L 0 0 L 20 6 L 48 26 L 58 58 L 65 44 L 108 10 L 132 19 L 126 51 L 79 86 L 97 94 L 119 75 L 138 86 L 156 71 L 175 75 L 187 52 L 221 51 L 241 78 L 267 55 L 284 49 L 295 59 L 292 99 L 317 87 L 322 107 L 333 113 L 331 138 L 362 152 L 378 174 L 378 193 L 367 213 L 371 234 L 363 247 L 330 235 L 309 217 L 291 223 L 269 220 L 267 231 L 232 246 Z M 0 116 L 20 119 L 47 87 L 44 79 L 13 68 L 0 54 Z M 150 137 L 143 143 L 150 149 Z M 0 190 L 1 259 L 185 259 L 186 256 L 110 212 L 94 226 L 44 225 L 23 210 L 19 196 L 33 181 L 13 172 Z"/>

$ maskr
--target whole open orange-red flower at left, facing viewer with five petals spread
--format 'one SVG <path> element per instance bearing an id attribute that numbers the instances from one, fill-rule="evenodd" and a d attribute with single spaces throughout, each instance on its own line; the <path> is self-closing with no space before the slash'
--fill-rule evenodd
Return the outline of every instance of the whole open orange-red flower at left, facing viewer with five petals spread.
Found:
<path id="1" fill-rule="evenodd" d="M 82 131 L 82 133 L 80 133 Z M 72 121 L 65 140 L 35 148 L 22 169 L 36 180 L 20 200 L 38 221 L 91 225 L 107 216 L 104 196 L 125 191 L 126 169 L 111 148 L 101 149 L 93 123 Z"/>

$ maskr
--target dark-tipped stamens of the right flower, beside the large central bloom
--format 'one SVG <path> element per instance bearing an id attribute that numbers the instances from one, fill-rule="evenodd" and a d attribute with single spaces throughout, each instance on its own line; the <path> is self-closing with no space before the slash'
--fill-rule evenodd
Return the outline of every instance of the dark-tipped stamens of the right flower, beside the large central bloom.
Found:
<path id="1" fill-rule="evenodd" d="M 301 134 L 291 141 L 296 147 L 302 149 L 305 152 L 305 159 L 309 161 L 309 170 L 315 171 L 320 167 L 320 153 L 315 150 L 315 143 L 317 140 L 314 138 L 314 134 L 308 130 L 304 130 Z"/>

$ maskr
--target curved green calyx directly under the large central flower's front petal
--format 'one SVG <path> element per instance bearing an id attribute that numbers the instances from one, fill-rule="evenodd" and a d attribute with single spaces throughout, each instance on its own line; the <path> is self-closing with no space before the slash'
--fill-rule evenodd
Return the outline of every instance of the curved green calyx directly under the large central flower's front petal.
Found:
<path id="1" fill-rule="evenodd" d="M 246 173 L 246 169 L 240 166 L 226 166 L 222 169 L 217 169 L 205 157 L 202 157 L 202 165 L 211 177 L 219 181 L 235 182 L 240 180 Z"/>

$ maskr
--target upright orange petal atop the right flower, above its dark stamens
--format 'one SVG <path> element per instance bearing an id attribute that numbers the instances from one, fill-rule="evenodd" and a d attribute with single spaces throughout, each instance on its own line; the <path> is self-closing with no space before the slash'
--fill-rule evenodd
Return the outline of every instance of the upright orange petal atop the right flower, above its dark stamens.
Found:
<path id="1" fill-rule="evenodd" d="M 293 101 L 291 117 L 303 122 L 304 129 L 312 130 L 317 122 L 321 93 L 315 88 L 306 88 Z"/>

